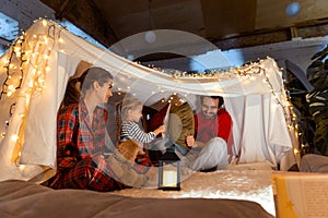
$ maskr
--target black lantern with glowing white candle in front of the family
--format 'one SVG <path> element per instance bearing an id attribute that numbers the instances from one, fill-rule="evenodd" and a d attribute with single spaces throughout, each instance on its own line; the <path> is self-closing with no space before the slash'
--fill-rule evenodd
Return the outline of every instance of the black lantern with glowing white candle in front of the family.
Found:
<path id="1" fill-rule="evenodd" d="M 159 190 L 180 190 L 180 159 L 175 154 L 175 145 L 166 148 L 166 153 L 159 160 Z"/>

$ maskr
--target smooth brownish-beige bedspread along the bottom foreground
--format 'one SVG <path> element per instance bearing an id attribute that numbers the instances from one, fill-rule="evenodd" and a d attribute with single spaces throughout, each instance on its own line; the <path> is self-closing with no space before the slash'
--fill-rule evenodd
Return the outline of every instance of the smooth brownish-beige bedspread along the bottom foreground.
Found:
<path id="1" fill-rule="evenodd" d="M 138 198 L 117 193 L 51 190 L 32 182 L 0 182 L 0 217 L 272 217 L 249 201 L 209 198 Z"/>

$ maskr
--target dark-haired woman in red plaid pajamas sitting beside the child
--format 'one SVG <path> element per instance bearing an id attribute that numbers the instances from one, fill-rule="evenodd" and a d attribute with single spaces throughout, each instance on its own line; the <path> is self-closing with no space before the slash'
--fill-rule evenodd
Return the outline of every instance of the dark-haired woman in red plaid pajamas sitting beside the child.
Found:
<path id="1" fill-rule="evenodd" d="M 57 173 L 52 189 L 121 190 L 121 168 L 104 157 L 113 75 L 92 66 L 69 81 L 57 118 Z M 115 166 L 114 166 L 115 165 Z"/>

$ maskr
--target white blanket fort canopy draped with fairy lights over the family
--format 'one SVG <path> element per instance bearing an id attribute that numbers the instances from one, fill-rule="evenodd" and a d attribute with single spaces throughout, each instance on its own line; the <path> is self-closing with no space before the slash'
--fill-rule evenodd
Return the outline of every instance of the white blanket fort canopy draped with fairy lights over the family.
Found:
<path id="1" fill-rule="evenodd" d="M 239 164 L 267 161 L 286 169 L 294 161 L 293 113 L 273 59 L 208 74 L 167 74 L 38 20 L 0 59 L 0 181 L 28 180 L 56 168 L 57 110 L 81 61 L 112 72 L 113 90 L 144 105 L 178 94 L 196 109 L 197 95 L 221 95 L 233 118 Z"/>

